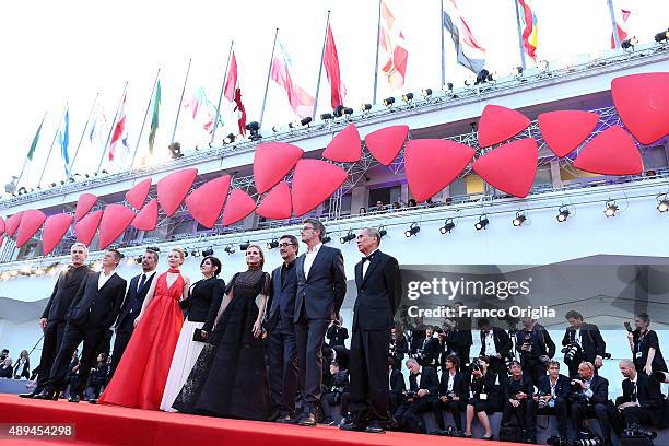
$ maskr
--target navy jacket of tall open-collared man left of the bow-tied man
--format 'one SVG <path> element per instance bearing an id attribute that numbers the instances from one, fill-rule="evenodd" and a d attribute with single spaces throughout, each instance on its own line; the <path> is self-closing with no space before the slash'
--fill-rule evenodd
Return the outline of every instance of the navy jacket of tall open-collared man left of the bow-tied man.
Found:
<path id="1" fill-rule="evenodd" d="M 307 319 L 338 319 L 347 294 L 347 274 L 343 256 L 337 248 L 321 245 L 316 254 L 308 278 L 304 273 L 306 254 L 297 257 L 297 295 L 293 321 L 304 312 Z"/>

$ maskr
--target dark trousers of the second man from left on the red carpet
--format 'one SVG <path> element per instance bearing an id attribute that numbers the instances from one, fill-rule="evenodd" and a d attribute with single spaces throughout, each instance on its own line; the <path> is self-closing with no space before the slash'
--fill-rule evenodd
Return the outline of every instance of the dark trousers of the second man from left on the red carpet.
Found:
<path id="1" fill-rule="evenodd" d="M 105 327 L 82 327 L 68 324 L 60 350 L 56 355 L 56 361 L 51 366 L 49 378 L 44 383 L 47 390 L 64 390 L 68 385 L 68 366 L 72 360 L 72 353 L 83 341 L 83 349 L 79 365 L 79 379 L 74 388 L 70 387 L 70 395 L 81 395 L 83 387 L 89 380 L 91 366 L 95 363 L 99 343 L 104 340 L 107 329 Z"/>

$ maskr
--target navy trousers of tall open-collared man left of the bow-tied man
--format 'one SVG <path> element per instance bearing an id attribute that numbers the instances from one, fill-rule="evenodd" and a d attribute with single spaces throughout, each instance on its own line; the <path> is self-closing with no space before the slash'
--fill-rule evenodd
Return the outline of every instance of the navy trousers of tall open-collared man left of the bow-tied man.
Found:
<path id="1" fill-rule="evenodd" d="M 295 345 L 300 368 L 301 408 L 305 413 L 315 413 L 322 385 L 322 341 L 330 321 L 305 319 L 295 324 Z M 386 345 L 384 351 L 388 350 Z"/>

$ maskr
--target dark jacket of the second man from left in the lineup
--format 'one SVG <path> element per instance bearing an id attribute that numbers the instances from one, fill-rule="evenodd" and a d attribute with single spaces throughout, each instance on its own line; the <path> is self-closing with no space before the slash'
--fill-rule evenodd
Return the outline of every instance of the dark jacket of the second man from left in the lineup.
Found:
<path id="1" fill-rule="evenodd" d="M 85 277 L 68 313 L 68 324 L 108 329 L 118 316 L 126 294 L 126 280 L 117 273 L 97 290 L 97 280 L 102 272 Z"/>

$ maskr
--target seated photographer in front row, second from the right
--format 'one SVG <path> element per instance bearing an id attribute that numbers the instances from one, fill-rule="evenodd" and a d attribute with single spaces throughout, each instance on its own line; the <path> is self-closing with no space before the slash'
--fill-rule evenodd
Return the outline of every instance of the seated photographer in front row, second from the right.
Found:
<path id="1" fill-rule="evenodd" d="M 572 379 L 571 386 L 570 399 L 574 430 L 580 432 L 586 418 L 596 418 L 601 427 L 605 445 L 611 445 L 611 424 L 607 411 L 609 382 L 595 375 L 592 363 L 582 362 L 578 366 L 578 378 Z"/>

